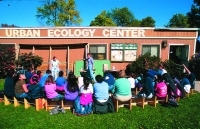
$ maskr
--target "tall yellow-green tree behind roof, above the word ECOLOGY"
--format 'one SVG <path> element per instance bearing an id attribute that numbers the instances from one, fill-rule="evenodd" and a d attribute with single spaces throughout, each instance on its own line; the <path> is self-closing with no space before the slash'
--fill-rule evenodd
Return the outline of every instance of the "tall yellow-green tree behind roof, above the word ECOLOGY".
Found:
<path id="1" fill-rule="evenodd" d="M 45 20 L 47 25 L 80 25 L 82 19 L 75 8 L 75 0 L 45 0 L 44 5 L 37 8 L 36 17 Z"/>

